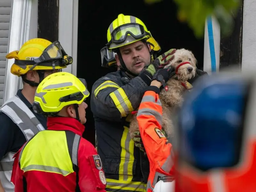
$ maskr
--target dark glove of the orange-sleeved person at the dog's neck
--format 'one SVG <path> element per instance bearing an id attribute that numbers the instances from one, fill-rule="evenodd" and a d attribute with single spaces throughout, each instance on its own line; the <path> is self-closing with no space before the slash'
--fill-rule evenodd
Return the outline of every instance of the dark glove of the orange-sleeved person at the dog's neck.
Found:
<path id="1" fill-rule="evenodd" d="M 165 82 L 167 82 L 174 75 L 175 75 L 174 68 L 158 69 L 154 74 L 152 81 L 153 80 L 159 81 L 160 83 L 162 83 L 165 91 L 168 91 L 168 86 L 166 85 Z"/>

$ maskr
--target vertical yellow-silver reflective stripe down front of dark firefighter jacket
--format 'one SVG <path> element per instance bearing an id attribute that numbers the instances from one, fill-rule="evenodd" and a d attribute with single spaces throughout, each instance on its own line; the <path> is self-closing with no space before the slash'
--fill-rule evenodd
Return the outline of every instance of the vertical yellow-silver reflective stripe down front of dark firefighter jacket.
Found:
<path id="1" fill-rule="evenodd" d="M 119 164 L 119 180 L 131 181 L 133 178 L 132 167 L 134 163 L 134 141 L 129 134 L 129 128 L 124 126 L 121 139 L 121 161 Z"/>

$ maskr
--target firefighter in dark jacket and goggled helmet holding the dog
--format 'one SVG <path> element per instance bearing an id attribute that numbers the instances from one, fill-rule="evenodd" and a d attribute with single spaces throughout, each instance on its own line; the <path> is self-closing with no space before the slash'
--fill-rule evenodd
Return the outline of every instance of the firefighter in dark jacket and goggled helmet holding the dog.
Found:
<path id="1" fill-rule="evenodd" d="M 134 147 L 128 133 L 131 112 L 139 107 L 143 91 L 156 69 L 173 59 L 169 50 L 151 62 L 152 37 L 145 24 L 130 15 L 118 15 L 107 32 L 108 50 L 116 52 L 120 70 L 98 79 L 92 87 L 91 110 L 95 119 L 97 151 L 102 159 L 108 191 L 144 191 L 149 162 Z"/>

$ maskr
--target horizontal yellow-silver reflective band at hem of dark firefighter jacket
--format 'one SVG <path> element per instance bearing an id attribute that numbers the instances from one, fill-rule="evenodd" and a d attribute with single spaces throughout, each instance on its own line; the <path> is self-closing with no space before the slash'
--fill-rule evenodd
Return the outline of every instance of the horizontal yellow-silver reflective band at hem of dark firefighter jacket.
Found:
<path id="1" fill-rule="evenodd" d="M 131 181 L 121 181 L 121 180 L 113 180 L 106 179 L 108 189 L 120 189 L 120 190 L 129 190 L 129 191 L 139 191 L 146 192 L 146 184 L 143 182 L 131 182 Z"/>

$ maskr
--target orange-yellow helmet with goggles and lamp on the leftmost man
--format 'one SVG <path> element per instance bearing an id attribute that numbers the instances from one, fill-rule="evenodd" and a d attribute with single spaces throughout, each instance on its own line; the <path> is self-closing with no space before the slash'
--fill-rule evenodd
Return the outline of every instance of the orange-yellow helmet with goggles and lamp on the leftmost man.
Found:
<path id="1" fill-rule="evenodd" d="M 28 40 L 21 46 L 20 51 L 12 51 L 6 55 L 7 59 L 15 59 L 11 67 L 11 73 L 13 75 L 21 76 L 26 74 L 29 70 L 66 68 L 67 64 L 63 64 L 60 60 L 60 58 L 65 57 L 66 53 L 58 43 L 59 42 L 52 43 L 41 38 Z M 51 55 L 51 58 L 44 57 L 47 59 L 41 60 L 45 54 Z M 71 62 L 68 64 L 72 63 L 72 57 L 70 61 Z"/>

